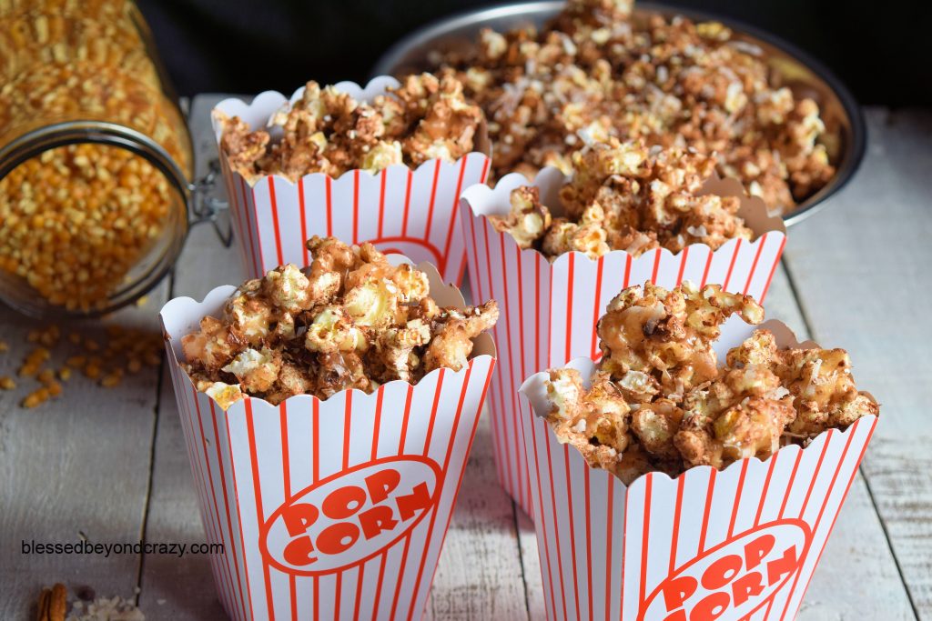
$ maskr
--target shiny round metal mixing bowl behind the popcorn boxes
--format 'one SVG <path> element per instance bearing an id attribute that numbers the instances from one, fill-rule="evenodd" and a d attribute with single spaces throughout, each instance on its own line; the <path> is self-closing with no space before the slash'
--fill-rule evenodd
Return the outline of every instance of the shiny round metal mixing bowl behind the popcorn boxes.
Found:
<path id="1" fill-rule="evenodd" d="M 541 26 L 562 7 L 563 2 L 516 3 L 480 9 L 434 22 L 392 46 L 378 60 L 373 75 L 401 75 L 432 69 L 436 66 L 432 58 L 435 59 L 438 53 L 469 50 L 475 45 L 476 36 L 483 28 L 503 32 L 528 24 Z M 732 29 L 734 40 L 760 47 L 765 61 L 782 76 L 783 83 L 797 96 L 811 97 L 818 103 L 826 126 L 821 140 L 836 168 L 835 176 L 816 194 L 786 214 L 784 221 L 788 225 L 798 223 L 825 207 L 829 196 L 838 192 L 855 174 L 864 156 L 867 132 L 864 117 L 848 89 L 821 62 L 773 34 L 761 32 L 753 26 L 651 2 L 638 2 L 632 20 L 636 24 L 642 23 L 651 14 L 660 14 L 666 18 L 683 15 L 695 21 L 715 20 L 724 23 Z"/>

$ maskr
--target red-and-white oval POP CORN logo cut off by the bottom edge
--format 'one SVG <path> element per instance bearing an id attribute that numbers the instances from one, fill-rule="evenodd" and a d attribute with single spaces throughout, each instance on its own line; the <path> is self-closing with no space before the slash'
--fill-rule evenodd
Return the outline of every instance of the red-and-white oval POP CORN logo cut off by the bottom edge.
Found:
<path id="1" fill-rule="evenodd" d="M 810 536 L 802 520 L 735 535 L 668 575 L 637 618 L 729 621 L 754 614 L 800 571 Z"/>

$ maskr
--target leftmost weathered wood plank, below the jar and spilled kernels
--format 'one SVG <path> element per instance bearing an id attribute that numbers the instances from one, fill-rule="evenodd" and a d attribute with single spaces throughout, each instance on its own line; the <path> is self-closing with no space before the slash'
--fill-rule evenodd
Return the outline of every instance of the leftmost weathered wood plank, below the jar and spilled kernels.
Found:
<path id="1" fill-rule="evenodd" d="M 104 326 L 121 325 L 158 333 L 156 313 L 167 283 L 142 307 L 130 307 L 104 321 L 61 324 L 62 342 L 48 366 L 61 368 L 80 347 L 68 342 L 77 331 L 99 344 Z M 40 323 L 0 308 L 0 375 L 16 376 L 35 344 L 30 330 Z M 0 391 L 0 618 L 27 618 L 42 587 L 63 582 L 89 585 L 101 595 L 134 597 L 138 554 L 27 555 L 21 541 L 75 544 L 134 544 L 143 530 L 157 399 L 158 369 L 128 374 L 122 384 L 103 388 L 75 372 L 62 397 L 34 410 L 20 407 L 39 385 L 16 378 L 19 387 Z"/>

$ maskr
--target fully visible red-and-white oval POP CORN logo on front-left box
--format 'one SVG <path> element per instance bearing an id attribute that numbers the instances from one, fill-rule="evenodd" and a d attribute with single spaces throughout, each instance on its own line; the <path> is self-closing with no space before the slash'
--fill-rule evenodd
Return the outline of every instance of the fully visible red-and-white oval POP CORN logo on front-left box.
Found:
<path id="1" fill-rule="evenodd" d="M 399 455 L 342 470 L 296 493 L 262 527 L 269 563 L 298 575 L 328 574 L 393 546 L 437 501 L 440 466 Z"/>

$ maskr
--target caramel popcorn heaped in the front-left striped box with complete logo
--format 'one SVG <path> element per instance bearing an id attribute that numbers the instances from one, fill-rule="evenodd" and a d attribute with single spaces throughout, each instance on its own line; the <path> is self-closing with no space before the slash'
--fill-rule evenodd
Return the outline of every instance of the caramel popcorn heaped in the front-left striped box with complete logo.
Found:
<path id="1" fill-rule="evenodd" d="M 224 409 L 245 395 L 273 404 L 295 395 L 372 392 L 468 364 L 473 338 L 495 325 L 495 301 L 439 307 L 427 275 L 392 266 L 371 244 L 308 241 L 313 262 L 249 280 L 223 315 L 182 338 L 185 370 Z"/>

